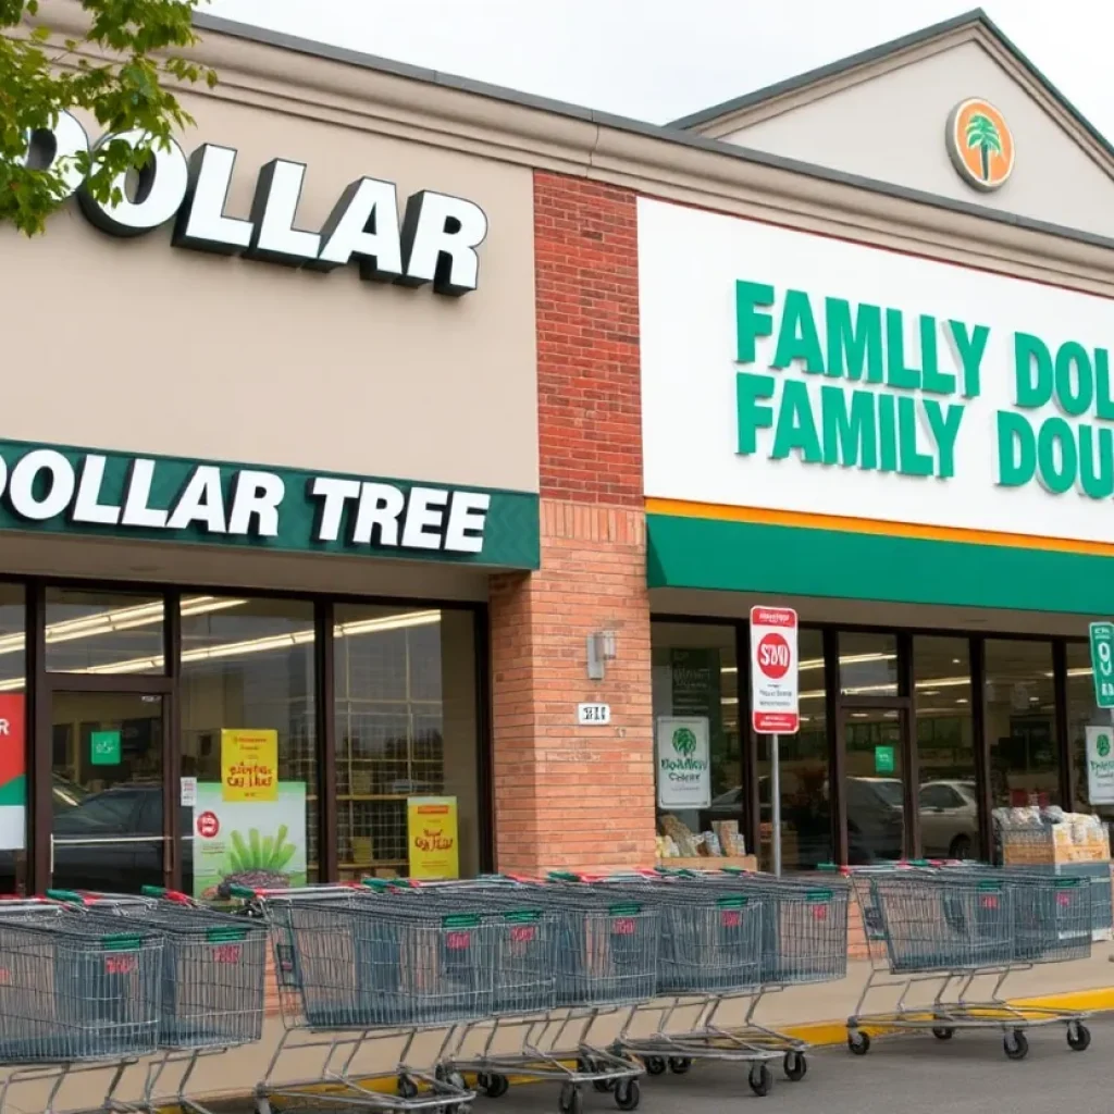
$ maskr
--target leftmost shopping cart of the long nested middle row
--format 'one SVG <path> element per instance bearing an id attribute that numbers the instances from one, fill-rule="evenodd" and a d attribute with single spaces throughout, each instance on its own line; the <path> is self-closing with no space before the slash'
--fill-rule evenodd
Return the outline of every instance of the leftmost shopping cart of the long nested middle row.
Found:
<path id="1" fill-rule="evenodd" d="M 255 1091 L 272 1101 L 322 1101 L 374 1111 L 466 1110 L 475 1092 L 446 1071 L 410 1063 L 424 1033 L 487 1016 L 496 1003 L 498 927 L 475 913 L 374 899 L 356 886 L 247 890 L 232 896 L 271 932 L 285 1032 Z M 443 1036 L 442 1036 L 443 1042 Z M 389 1073 L 360 1068 L 362 1054 L 393 1047 Z M 317 1076 L 280 1081 L 289 1053 L 325 1049 Z M 431 1061 L 437 1065 L 438 1056 Z M 394 1093 L 377 1091 L 382 1078 Z"/>

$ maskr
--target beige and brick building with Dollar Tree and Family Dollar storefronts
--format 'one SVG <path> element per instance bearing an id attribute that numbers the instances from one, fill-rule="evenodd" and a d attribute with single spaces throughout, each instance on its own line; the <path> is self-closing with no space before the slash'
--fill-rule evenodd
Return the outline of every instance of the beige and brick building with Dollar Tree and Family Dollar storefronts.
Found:
<path id="1" fill-rule="evenodd" d="M 4 888 L 768 862 L 754 603 L 788 869 L 1089 811 L 1114 154 L 984 17 L 665 128 L 203 27 L 185 150 L 8 237 Z"/>

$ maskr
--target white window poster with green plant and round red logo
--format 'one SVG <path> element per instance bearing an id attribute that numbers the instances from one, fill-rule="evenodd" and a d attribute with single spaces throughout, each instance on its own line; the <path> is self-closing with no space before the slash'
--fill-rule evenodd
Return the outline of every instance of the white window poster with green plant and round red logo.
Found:
<path id="1" fill-rule="evenodd" d="M 194 897 L 222 885 L 305 885 L 305 782 L 278 783 L 274 801 L 226 801 L 221 782 L 199 782 L 194 807 Z"/>

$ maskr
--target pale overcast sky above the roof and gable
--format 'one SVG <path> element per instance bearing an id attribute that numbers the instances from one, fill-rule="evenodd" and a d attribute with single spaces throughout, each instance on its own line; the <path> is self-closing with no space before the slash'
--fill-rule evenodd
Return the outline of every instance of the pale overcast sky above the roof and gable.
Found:
<path id="1" fill-rule="evenodd" d="M 211 0 L 207 10 L 661 124 L 971 7 L 961 0 Z M 984 9 L 1114 137 L 1114 3 L 987 0 Z"/>

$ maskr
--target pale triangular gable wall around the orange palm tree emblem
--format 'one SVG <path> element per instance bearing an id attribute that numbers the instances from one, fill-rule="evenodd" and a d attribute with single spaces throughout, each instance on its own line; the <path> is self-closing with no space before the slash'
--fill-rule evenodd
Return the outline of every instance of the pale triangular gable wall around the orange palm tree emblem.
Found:
<path id="1" fill-rule="evenodd" d="M 984 47 L 960 42 L 849 84 L 776 115 L 755 113 L 723 138 L 756 150 L 971 202 L 1067 228 L 1114 235 L 1114 183 L 1091 155 Z M 991 194 L 955 172 L 948 114 L 985 97 L 1014 131 L 1010 179 Z M 802 97 L 802 100 L 805 98 Z"/>

